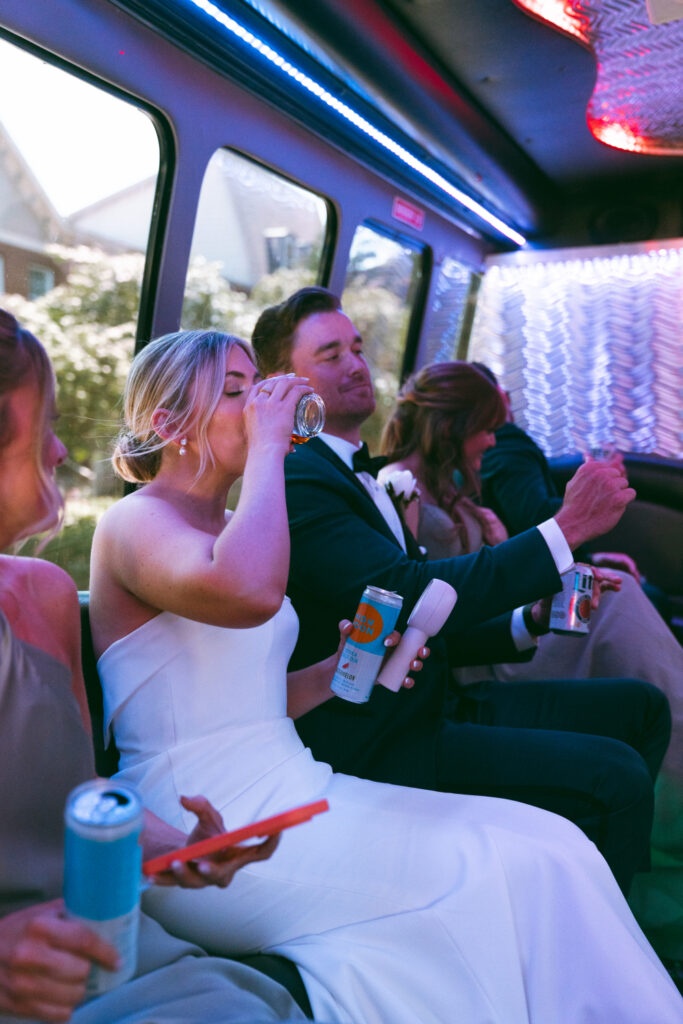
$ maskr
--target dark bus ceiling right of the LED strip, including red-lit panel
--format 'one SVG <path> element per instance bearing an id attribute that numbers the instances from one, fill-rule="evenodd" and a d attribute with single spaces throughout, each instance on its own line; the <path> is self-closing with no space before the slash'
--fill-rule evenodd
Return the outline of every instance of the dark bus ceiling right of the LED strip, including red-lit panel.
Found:
<path id="1" fill-rule="evenodd" d="M 666 19 L 668 2 L 248 6 L 484 204 L 554 246 L 681 233 L 683 8 Z"/>

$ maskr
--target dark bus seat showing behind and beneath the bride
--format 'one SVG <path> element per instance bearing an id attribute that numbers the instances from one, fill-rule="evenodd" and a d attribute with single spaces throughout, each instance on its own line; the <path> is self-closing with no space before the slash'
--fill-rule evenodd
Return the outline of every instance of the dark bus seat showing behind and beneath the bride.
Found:
<path id="1" fill-rule="evenodd" d="M 88 708 L 90 710 L 90 721 L 92 722 L 95 768 L 98 775 L 113 775 L 119 765 L 119 752 L 113 740 L 109 745 L 104 745 L 102 690 L 99 684 L 99 676 L 97 675 L 97 663 L 90 634 L 89 597 L 90 595 L 87 590 L 80 590 L 78 592 L 79 604 L 81 606 L 81 658 L 83 662 L 83 676 L 88 697 Z M 240 964 L 246 964 L 247 967 L 251 967 L 255 971 L 260 971 L 272 979 L 272 981 L 279 982 L 299 1005 L 306 1017 L 309 1020 L 313 1019 L 313 1012 L 308 1000 L 306 987 L 296 965 L 291 961 L 274 953 L 254 953 L 249 956 L 234 956 L 232 958 L 239 961 Z"/>

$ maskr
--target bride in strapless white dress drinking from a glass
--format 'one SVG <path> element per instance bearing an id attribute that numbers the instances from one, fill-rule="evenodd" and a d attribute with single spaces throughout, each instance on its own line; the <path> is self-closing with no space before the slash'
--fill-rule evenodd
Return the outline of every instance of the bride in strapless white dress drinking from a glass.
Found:
<path id="1" fill-rule="evenodd" d="M 160 339 L 134 362 L 115 464 L 150 482 L 93 544 L 105 715 L 122 776 L 178 827 L 178 796 L 197 792 L 228 828 L 319 798 L 330 811 L 229 889 L 154 889 L 147 909 L 212 951 L 286 955 L 318 1019 L 679 1024 L 678 992 L 572 824 L 336 775 L 302 745 L 288 710 L 328 698 L 336 660 L 287 688 L 283 463 L 308 388 L 254 380 L 248 349 L 208 332 Z"/>

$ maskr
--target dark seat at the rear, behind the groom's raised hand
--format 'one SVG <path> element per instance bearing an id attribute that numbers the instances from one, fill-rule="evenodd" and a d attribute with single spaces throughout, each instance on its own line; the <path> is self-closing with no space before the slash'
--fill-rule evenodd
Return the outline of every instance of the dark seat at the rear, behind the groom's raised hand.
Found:
<path id="1" fill-rule="evenodd" d="M 683 463 L 640 453 L 625 455 L 624 463 L 637 497 L 613 529 L 586 547 L 635 558 L 647 582 L 667 596 L 670 626 L 683 642 Z M 560 494 L 580 464 L 579 456 L 550 460 Z"/>

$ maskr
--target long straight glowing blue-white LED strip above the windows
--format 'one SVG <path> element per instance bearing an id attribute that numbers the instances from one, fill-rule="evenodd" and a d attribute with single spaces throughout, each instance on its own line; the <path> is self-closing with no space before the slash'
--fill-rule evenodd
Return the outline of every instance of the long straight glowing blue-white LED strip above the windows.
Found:
<path id="1" fill-rule="evenodd" d="M 436 185 L 436 187 L 449 196 L 450 199 L 454 200 L 460 206 L 464 206 L 467 210 L 470 210 L 470 212 L 475 214 L 480 220 L 483 220 L 490 227 L 496 228 L 497 231 L 503 234 L 506 239 L 509 239 L 511 242 L 514 242 L 515 245 L 524 246 L 526 244 L 524 236 L 520 234 L 520 232 L 514 227 L 511 227 L 510 224 L 506 224 L 504 220 L 501 220 L 500 217 L 497 217 L 496 214 L 486 210 L 484 206 L 477 203 L 477 201 L 472 199 L 471 196 L 468 196 L 467 193 L 462 191 L 454 185 L 433 167 L 425 164 L 425 162 L 420 160 L 419 157 L 410 153 L 410 151 L 408 151 L 399 142 L 387 135 L 386 132 L 381 131 L 381 129 L 373 125 L 361 114 L 354 111 L 348 103 L 333 95 L 333 93 L 331 93 L 329 89 L 326 89 L 324 85 L 321 85 L 321 83 L 316 82 L 310 77 L 310 75 L 307 75 L 305 72 L 301 71 L 300 68 L 297 68 L 296 65 L 288 60 L 282 53 L 279 53 L 278 50 L 266 43 L 265 40 L 260 39 L 245 26 L 241 25 L 237 18 L 231 17 L 215 3 L 212 3 L 211 0 L 188 0 L 188 2 L 204 11 L 205 14 L 208 14 L 209 17 L 213 18 L 213 20 L 220 25 L 220 27 L 226 32 L 237 36 L 247 46 L 251 46 L 252 49 L 254 49 L 257 53 L 260 53 L 262 57 L 278 68 L 284 75 L 288 75 L 289 78 L 297 82 L 303 89 L 306 89 L 311 96 L 315 96 L 316 99 L 326 103 L 341 118 L 344 118 L 355 128 L 377 142 L 378 145 L 381 145 L 388 153 L 391 153 L 397 160 L 405 164 L 421 177 L 430 181 L 431 184 Z"/>

